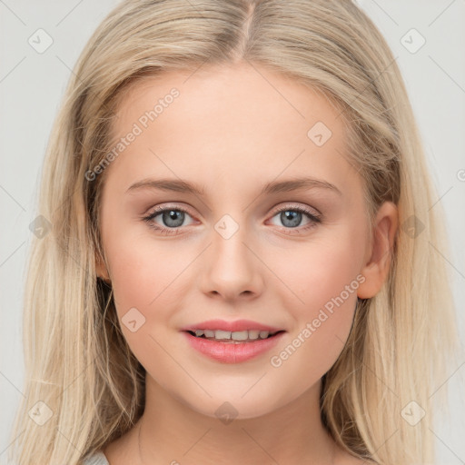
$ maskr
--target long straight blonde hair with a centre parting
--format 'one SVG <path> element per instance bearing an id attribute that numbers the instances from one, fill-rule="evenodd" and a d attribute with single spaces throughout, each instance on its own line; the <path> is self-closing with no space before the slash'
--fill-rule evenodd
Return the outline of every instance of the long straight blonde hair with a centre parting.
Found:
<path id="1" fill-rule="evenodd" d="M 132 0 L 117 5 L 85 46 L 45 155 L 38 211 L 50 230 L 34 238 L 28 263 L 25 398 L 10 450 L 19 465 L 79 464 L 143 413 L 143 366 L 95 272 L 95 256 L 104 257 L 105 172 L 94 181 L 85 176 L 111 149 L 118 102 L 147 76 L 241 60 L 334 104 L 371 220 L 385 201 L 399 207 L 389 277 L 375 297 L 357 303 L 350 337 L 323 377 L 323 424 L 342 448 L 378 464 L 433 460 L 433 401 L 443 406 L 446 390 L 436 390 L 459 341 L 438 252 L 447 254 L 443 213 L 380 32 L 350 0 Z M 426 411 L 415 425 L 401 414 L 411 401 Z M 43 419 L 52 415 L 39 425 L 33 407 Z"/>

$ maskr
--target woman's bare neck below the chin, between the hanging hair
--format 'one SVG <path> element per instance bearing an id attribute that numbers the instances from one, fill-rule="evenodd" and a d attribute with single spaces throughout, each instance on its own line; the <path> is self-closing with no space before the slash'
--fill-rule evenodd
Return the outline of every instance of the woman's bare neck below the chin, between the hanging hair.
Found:
<path id="1" fill-rule="evenodd" d="M 228 422 L 194 411 L 147 374 L 135 453 L 151 465 L 331 464 L 336 445 L 322 425 L 320 390 L 321 381 L 281 409 Z"/>

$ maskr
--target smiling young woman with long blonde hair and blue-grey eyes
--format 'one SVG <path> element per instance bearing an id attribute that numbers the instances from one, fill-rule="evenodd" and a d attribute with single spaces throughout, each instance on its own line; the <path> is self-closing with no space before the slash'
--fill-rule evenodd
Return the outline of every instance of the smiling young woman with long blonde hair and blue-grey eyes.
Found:
<path id="1" fill-rule="evenodd" d="M 436 198 L 351 1 L 121 3 L 48 147 L 12 457 L 433 460 L 457 347 Z"/>

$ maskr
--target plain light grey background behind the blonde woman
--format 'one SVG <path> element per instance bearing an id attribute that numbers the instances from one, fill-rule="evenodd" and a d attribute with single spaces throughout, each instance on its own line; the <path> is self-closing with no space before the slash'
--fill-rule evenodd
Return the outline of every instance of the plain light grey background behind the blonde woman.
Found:
<path id="1" fill-rule="evenodd" d="M 32 234 L 28 226 L 35 218 L 45 145 L 78 54 L 117 3 L 0 0 L 0 464 L 6 463 L 14 412 L 23 396 L 22 292 Z M 451 252 L 444 260 L 453 276 L 464 341 L 465 0 L 360 0 L 359 4 L 391 45 L 420 125 L 438 186 L 437 202 L 447 213 Z M 54 41 L 43 54 L 28 44 L 39 28 Z M 416 33 L 406 35 L 411 28 L 426 40 L 416 53 L 402 45 L 403 41 L 411 42 L 410 47 L 420 44 Z M 465 463 L 465 360 L 460 363 L 444 380 L 451 391 L 451 417 L 434 430 L 441 465 Z"/>

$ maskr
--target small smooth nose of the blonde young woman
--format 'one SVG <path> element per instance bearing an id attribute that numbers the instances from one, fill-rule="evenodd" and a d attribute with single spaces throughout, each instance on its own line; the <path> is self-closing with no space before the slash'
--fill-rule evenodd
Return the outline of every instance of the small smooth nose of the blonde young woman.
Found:
<path id="1" fill-rule="evenodd" d="M 252 300 L 262 293 L 263 262 L 247 243 L 251 241 L 247 241 L 244 229 L 226 237 L 213 229 L 212 243 L 202 262 L 202 291 L 230 302 Z"/>

